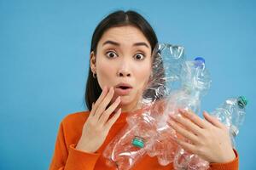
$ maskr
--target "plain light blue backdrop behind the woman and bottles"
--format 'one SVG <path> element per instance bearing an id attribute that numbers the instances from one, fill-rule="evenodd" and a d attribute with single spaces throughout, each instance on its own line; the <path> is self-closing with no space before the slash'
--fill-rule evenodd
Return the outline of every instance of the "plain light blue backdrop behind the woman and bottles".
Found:
<path id="1" fill-rule="evenodd" d="M 255 169 L 255 1 L 0 0 L 0 169 L 47 169 L 61 119 L 84 111 L 90 38 L 115 9 L 134 9 L 160 42 L 203 56 L 212 88 L 203 110 L 245 95 L 237 137 L 242 170 Z"/>

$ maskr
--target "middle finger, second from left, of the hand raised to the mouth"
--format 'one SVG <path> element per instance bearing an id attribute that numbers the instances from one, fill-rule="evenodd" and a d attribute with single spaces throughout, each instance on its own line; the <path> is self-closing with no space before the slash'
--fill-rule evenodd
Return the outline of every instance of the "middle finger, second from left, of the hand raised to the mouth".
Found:
<path id="1" fill-rule="evenodd" d="M 106 107 L 108 106 L 109 102 L 113 98 L 113 94 L 114 94 L 113 87 L 111 87 L 106 97 L 102 100 L 102 103 L 100 103 L 100 105 L 96 109 L 96 113 L 95 113 L 96 120 L 99 120 L 100 116 L 102 116 L 102 113 L 106 110 Z"/>

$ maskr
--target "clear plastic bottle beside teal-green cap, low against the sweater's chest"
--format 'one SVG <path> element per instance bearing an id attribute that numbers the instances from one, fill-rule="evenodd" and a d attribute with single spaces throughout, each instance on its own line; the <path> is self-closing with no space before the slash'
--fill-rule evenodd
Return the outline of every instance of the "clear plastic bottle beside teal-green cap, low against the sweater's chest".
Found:
<path id="1" fill-rule="evenodd" d="M 139 116 L 139 115 L 137 115 Z M 151 144 L 155 134 L 154 120 L 144 110 L 136 124 L 127 124 L 103 151 L 103 156 L 110 167 L 126 170 L 131 169 L 141 159 Z"/>

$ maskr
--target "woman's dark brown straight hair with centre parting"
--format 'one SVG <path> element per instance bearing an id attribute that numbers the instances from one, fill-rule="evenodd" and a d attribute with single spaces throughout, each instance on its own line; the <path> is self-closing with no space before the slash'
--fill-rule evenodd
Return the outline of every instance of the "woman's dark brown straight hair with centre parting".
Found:
<path id="1" fill-rule="evenodd" d="M 93 33 L 91 39 L 91 47 L 90 53 L 94 52 L 96 54 L 96 47 L 102 35 L 109 28 L 116 26 L 136 26 L 140 31 L 143 32 L 143 35 L 148 39 L 152 50 L 154 46 L 157 44 L 158 40 L 154 33 L 153 28 L 149 25 L 148 21 L 143 18 L 141 14 L 138 14 L 135 11 L 115 11 L 112 14 L 108 14 L 106 18 L 104 18 L 98 26 L 96 26 L 96 30 Z M 93 102 L 96 102 L 100 94 L 102 93 L 102 88 L 100 87 L 96 78 L 93 77 L 93 73 L 90 70 L 89 64 L 89 74 L 86 83 L 86 90 L 84 94 L 84 99 L 86 101 L 86 106 L 88 110 L 91 110 L 91 105 Z"/>

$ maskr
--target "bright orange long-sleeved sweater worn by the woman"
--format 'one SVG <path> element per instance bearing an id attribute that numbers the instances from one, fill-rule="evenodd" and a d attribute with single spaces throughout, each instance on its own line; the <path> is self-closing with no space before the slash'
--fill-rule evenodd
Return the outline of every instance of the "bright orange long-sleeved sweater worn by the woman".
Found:
<path id="1" fill-rule="evenodd" d="M 113 167 L 107 167 L 105 165 L 102 151 L 106 145 L 113 139 L 116 133 L 125 126 L 125 117 L 127 113 L 123 112 L 119 116 L 117 122 L 113 124 L 110 129 L 107 139 L 102 147 L 96 151 L 96 153 L 86 153 L 81 150 L 76 150 L 76 144 L 78 144 L 84 122 L 89 116 L 90 111 L 81 111 L 66 116 L 61 122 L 59 132 L 55 143 L 55 152 L 51 161 L 50 170 L 102 170 L 102 169 L 114 169 Z M 211 163 L 210 169 L 212 170 L 238 170 L 238 155 L 236 150 L 236 159 L 226 163 Z M 157 170 L 172 170 L 172 164 L 165 167 L 160 166 L 156 156 L 145 156 L 143 159 L 132 168 L 135 170 L 144 169 L 157 169 Z"/>

